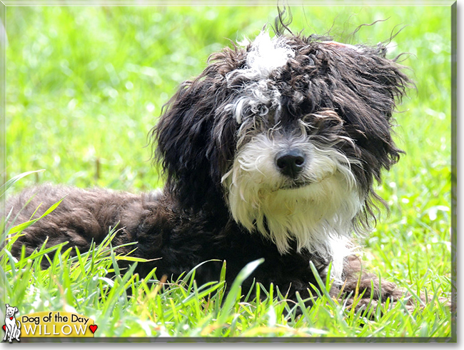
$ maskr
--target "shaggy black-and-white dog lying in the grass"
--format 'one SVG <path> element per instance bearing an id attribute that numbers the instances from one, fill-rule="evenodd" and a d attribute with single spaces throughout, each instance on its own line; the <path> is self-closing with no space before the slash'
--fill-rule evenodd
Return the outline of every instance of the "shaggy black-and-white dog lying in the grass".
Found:
<path id="1" fill-rule="evenodd" d="M 230 286 L 263 258 L 243 289 L 272 283 L 288 299 L 309 298 L 316 271 L 333 280 L 332 296 L 402 296 L 361 271 L 355 252 L 386 206 L 374 184 L 402 153 L 392 128 L 411 84 L 405 68 L 386 58 L 385 44 L 342 44 L 283 24 L 274 32 L 213 54 L 164 106 L 149 134 L 162 191 L 27 189 L 7 205 L 19 222 L 64 199 L 11 253 L 24 246 L 31 254 L 47 238 L 46 246 L 67 241 L 65 249 L 86 251 L 118 225 L 113 245 L 135 242 L 118 253 L 151 259 L 136 266 L 142 277 L 156 268 L 176 279 L 208 261 L 197 283 L 218 281 L 216 259 L 226 261 Z"/>

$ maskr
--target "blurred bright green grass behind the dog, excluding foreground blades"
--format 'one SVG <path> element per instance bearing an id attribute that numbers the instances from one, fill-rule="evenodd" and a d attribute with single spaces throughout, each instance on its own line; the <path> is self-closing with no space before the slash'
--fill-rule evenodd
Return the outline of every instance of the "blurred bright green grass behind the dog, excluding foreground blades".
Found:
<path id="1" fill-rule="evenodd" d="M 392 214 L 366 244 L 373 269 L 413 281 L 450 276 L 449 6 L 291 6 L 294 32 L 376 44 L 398 29 L 415 81 L 396 114 L 406 155 L 378 192 Z M 161 107 L 208 56 L 273 24 L 276 6 L 6 8 L 6 173 L 46 169 L 51 181 L 147 191 L 161 186 L 147 133 Z M 360 24 L 364 26 L 351 35 Z M 386 269 L 385 269 L 386 268 Z M 449 285 L 445 288 L 449 291 Z"/>

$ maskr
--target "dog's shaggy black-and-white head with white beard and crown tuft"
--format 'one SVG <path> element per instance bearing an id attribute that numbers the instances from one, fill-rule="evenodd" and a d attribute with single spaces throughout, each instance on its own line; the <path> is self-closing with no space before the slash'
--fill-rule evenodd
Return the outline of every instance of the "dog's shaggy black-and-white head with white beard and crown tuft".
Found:
<path id="1" fill-rule="evenodd" d="M 408 77 L 385 51 L 263 31 L 214 54 L 153 129 L 169 190 L 186 208 L 222 201 L 281 252 L 333 256 L 400 156 L 391 117 Z"/>

